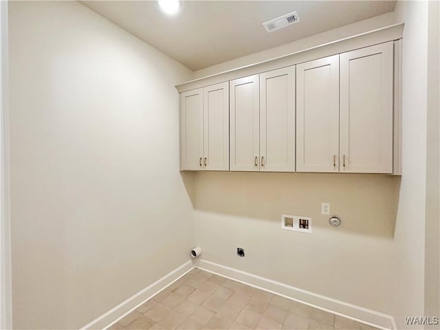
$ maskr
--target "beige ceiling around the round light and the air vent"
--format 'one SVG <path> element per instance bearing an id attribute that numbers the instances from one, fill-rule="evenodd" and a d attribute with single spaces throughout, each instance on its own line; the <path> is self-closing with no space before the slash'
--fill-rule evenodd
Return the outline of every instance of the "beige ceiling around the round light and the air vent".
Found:
<path id="1" fill-rule="evenodd" d="M 156 1 L 80 1 L 197 70 L 394 10 L 395 1 L 185 1 L 167 16 Z M 296 11 L 300 22 L 271 33 L 261 23 Z"/>

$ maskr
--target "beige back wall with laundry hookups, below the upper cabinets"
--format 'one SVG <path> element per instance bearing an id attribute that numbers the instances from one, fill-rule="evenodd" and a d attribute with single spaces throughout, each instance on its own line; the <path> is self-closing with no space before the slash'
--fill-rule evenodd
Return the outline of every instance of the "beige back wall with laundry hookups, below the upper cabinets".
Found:
<path id="1" fill-rule="evenodd" d="M 197 173 L 202 258 L 362 307 L 392 299 L 390 259 L 399 177 L 322 173 Z M 342 219 L 320 214 L 321 202 Z M 312 218 L 313 234 L 281 230 L 281 214 Z M 245 248 L 245 258 L 236 248 Z"/>

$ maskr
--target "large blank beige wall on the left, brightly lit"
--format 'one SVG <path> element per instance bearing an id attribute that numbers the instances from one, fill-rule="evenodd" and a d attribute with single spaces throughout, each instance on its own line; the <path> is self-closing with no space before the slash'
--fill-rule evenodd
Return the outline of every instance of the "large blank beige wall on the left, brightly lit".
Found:
<path id="1" fill-rule="evenodd" d="M 188 261 L 191 72 L 75 1 L 9 14 L 13 325 L 77 329 Z"/>

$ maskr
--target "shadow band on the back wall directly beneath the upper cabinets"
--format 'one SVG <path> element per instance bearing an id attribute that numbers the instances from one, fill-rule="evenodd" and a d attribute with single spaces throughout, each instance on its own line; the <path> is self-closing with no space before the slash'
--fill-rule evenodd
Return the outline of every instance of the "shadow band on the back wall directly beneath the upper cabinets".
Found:
<path id="1" fill-rule="evenodd" d="M 192 202 L 196 211 L 274 221 L 280 226 L 281 214 L 300 215 L 312 218 L 312 229 L 331 228 L 330 216 L 321 214 L 321 203 L 327 202 L 331 214 L 342 220 L 334 230 L 394 236 L 399 176 L 245 172 L 194 175 Z"/>

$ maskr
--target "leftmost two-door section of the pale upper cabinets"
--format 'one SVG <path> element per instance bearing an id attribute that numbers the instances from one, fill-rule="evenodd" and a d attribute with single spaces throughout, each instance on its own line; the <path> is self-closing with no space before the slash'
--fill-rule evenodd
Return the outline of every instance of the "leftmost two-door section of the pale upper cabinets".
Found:
<path id="1" fill-rule="evenodd" d="M 180 96 L 181 170 L 229 170 L 229 88 L 220 83 Z"/>

